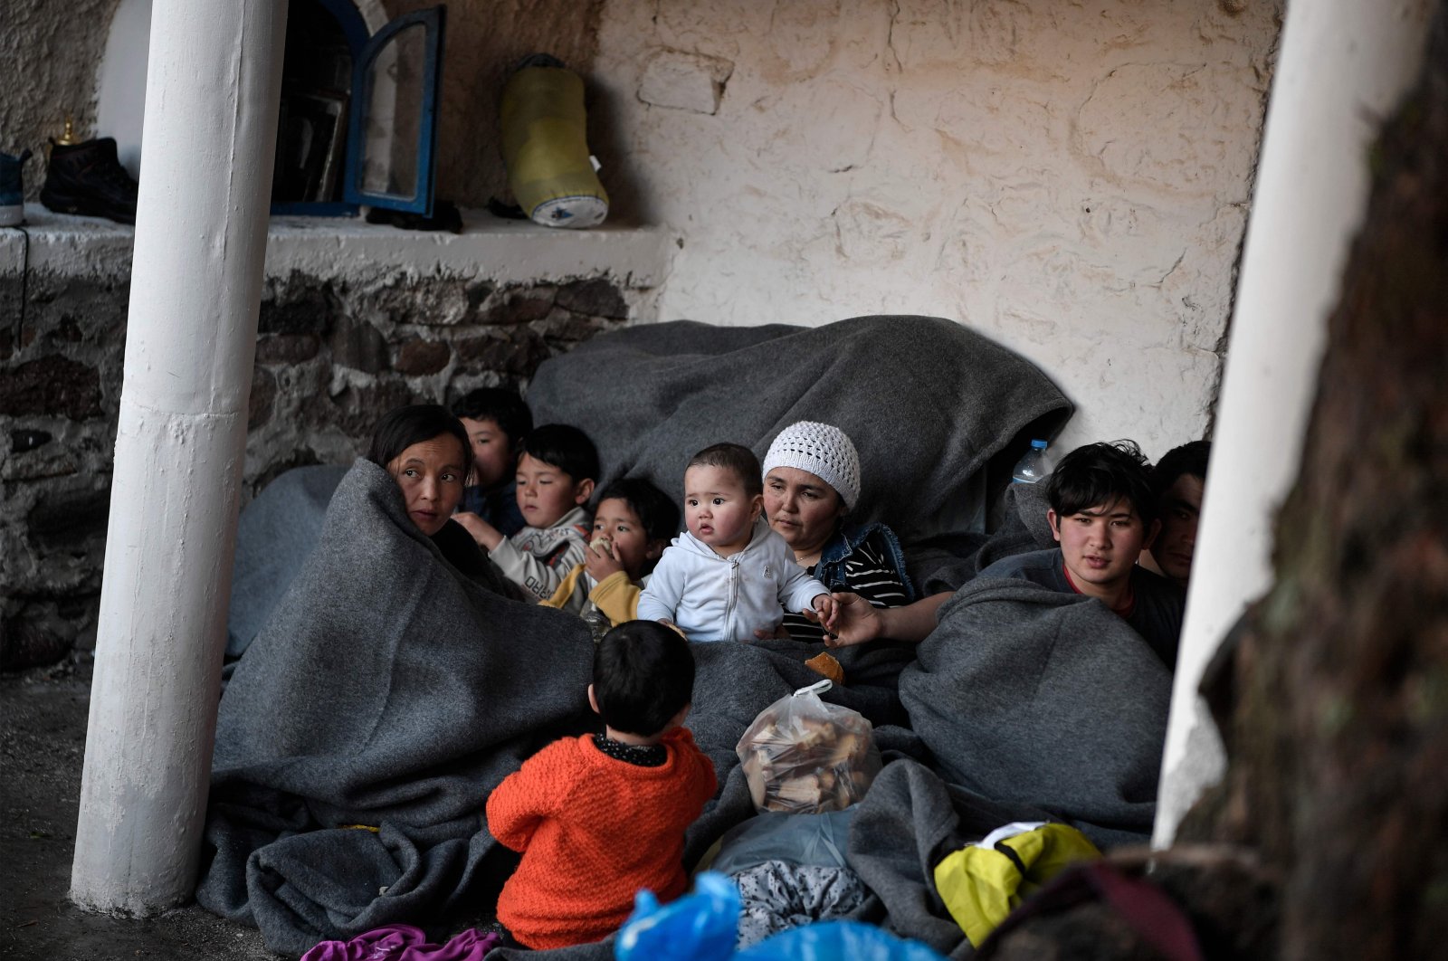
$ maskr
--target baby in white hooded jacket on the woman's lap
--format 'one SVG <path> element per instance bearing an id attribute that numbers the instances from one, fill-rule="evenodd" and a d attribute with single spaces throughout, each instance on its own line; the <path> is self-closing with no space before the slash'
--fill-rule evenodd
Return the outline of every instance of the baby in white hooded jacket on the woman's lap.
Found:
<path id="1" fill-rule="evenodd" d="M 694 454 L 683 472 L 688 530 L 663 551 L 639 596 L 639 617 L 676 624 L 691 641 L 770 635 L 785 608 L 828 618 L 830 589 L 795 562 L 763 505 L 763 476 L 749 447 L 714 444 Z"/>

